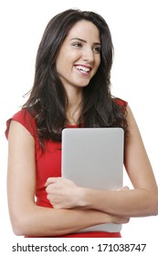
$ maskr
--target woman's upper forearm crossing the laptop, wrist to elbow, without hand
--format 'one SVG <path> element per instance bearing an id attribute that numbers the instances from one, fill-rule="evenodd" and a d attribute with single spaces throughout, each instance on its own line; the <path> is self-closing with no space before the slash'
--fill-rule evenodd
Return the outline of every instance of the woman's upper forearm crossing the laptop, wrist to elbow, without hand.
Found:
<path id="1" fill-rule="evenodd" d="M 147 189 L 103 191 L 82 188 L 81 204 L 84 208 L 95 208 L 109 214 L 142 217 L 158 214 L 157 192 Z"/>

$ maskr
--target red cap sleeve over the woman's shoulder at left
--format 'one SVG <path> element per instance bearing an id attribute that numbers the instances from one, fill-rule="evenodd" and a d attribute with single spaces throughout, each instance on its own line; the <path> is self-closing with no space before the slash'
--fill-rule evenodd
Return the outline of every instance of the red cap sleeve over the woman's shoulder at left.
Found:
<path id="1" fill-rule="evenodd" d="M 29 133 L 31 133 L 33 136 L 37 136 L 35 119 L 26 110 L 26 108 L 22 108 L 6 121 L 6 130 L 5 130 L 6 138 L 8 137 L 11 121 L 16 121 L 18 123 L 21 123 L 26 128 L 26 130 L 28 130 Z"/>

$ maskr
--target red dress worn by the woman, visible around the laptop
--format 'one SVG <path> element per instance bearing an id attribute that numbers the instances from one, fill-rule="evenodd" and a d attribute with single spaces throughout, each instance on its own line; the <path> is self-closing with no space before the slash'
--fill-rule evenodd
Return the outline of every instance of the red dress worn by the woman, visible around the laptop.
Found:
<path id="1" fill-rule="evenodd" d="M 121 105 L 124 101 L 118 100 Z M 61 143 L 53 142 L 51 140 L 45 141 L 45 151 L 42 153 L 38 139 L 37 127 L 33 117 L 25 110 L 22 109 L 6 122 L 5 136 L 8 137 L 9 125 L 12 120 L 21 123 L 35 139 L 36 144 L 36 197 L 37 206 L 52 208 L 52 205 L 47 200 L 47 192 L 45 183 L 50 176 L 61 176 Z M 69 125 L 68 127 L 76 128 L 78 125 Z M 119 238 L 120 232 L 83 232 L 73 233 L 63 236 L 62 238 Z"/>

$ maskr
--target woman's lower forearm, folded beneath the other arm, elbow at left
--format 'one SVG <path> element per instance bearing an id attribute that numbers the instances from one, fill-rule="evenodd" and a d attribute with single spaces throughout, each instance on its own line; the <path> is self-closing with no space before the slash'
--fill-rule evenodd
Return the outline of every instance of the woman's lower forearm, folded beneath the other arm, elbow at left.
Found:
<path id="1" fill-rule="evenodd" d="M 126 223 L 128 219 L 112 217 L 93 209 L 53 209 L 34 206 L 13 218 L 16 235 L 47 237 L 73 233 L 102 223 Z"/>

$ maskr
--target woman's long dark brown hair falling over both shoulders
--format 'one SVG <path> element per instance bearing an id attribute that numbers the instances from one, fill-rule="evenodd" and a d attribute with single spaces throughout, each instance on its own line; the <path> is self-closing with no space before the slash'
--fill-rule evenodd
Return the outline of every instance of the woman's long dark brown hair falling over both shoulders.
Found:
<path id="1" fill-rule="evenodd" d="M 111 97 L 111 65 L 113 46 L 111 32 L 98 14 L 68 9 L 54 16 L 45 29 L 37 50 L 33 89 L 24 108 L 37 123 L 39 142 L 61 140 L 66 123 L 67 94 L 58 78 L 55 62 L 68 31 L 79 20 L 88 20 L 100 30 L 100 67 L 88 86 L 83 88 L 82 111 L 79 123 L 84 127 L 122 127 L 127 123 L 120 104 Z"/>

